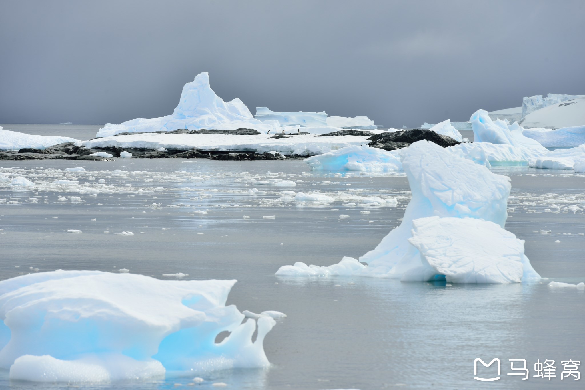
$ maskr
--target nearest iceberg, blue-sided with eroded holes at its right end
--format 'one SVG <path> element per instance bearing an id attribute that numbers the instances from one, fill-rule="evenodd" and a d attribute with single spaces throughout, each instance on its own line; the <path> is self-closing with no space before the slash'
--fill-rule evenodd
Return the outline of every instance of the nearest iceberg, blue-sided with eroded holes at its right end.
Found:
<path id="1" fill-rule="evenodd" d="M 0 367 L 11 379 L 107 382 L 267 367 L 278 312 L 225 306 L 235 280 L 54 271 L 0 282 Z M 220 332 L 231 332 L 221 342 Z M 252 342 L 254 332 L 257 337 Z"/>

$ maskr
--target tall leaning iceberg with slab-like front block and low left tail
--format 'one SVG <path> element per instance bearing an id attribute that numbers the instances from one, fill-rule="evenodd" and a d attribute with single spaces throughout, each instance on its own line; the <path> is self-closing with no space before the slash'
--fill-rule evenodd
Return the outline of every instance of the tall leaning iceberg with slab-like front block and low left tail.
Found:
<path id="1" fill-rule="evenodd" d="M 456 283 L 540 279 L 524 255 L 524 241 L 504 230 L 509 178 L 428 141 L 402 149 L 400 158 L 412 199 L 400 226 L 360 257 L 367 267 L 344 258 L 329 267 L 284 265 L 276 274 Z"/>

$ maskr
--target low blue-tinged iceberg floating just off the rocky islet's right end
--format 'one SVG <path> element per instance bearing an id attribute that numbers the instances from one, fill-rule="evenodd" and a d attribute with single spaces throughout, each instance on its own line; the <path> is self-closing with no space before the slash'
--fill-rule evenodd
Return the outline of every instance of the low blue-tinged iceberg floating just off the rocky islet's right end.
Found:
<path id="1" fill-rule="evenodd" d="M 320 156 L 309 157 L 304 161 L 314 171 L 390 172 L 402 170 L 398 151 L 386 151 L 367 145 L 343 147 Z"/>

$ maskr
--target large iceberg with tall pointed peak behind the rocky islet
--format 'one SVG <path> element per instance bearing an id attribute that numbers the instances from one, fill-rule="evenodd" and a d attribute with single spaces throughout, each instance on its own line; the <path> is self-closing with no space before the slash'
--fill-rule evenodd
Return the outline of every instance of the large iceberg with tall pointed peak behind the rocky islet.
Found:
<path id="1" fill-rule="evenodd" d="M 132 119 L 119 125 L 106 123 L 99 129 L 97 137 L 126 132 L 170 132 L 176 129 L 235 130 L 242 127 L 268 132 L 276 130 L 278 123 L 270 121 L 262 123 L 254 119 L 246 105 L 238 98 L 224 102 L 209 87 L 209 74 L 202 72 L 195 80 L 185 84 L 173 115 L 153 119 Z"/>

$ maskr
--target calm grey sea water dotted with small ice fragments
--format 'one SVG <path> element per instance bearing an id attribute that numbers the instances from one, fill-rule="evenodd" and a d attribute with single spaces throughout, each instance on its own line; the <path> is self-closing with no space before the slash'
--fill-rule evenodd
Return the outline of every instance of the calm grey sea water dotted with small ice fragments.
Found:
<path id="1" fill-rule="evenodd" d="M 274 275 L 280 265 L 295 261 L 329 265 L 373 249 L 400 223 L 409 197 L 405 177 L 335 177 L 331 172 L 311 172 L 302 161 L 0 161 L 0 169 L 18 168 L 33 181 L 46 180 L 42 175 L 52 168 L 78 166 L 87 170 L 71 173 L 78 181 L 104 178 L 114 192 L 86 195 L 81 202 L 58 202 L 58 196 L 78 194 L 54 188 L 37 195 L 0 191 L 0 199 L 18 202 L 0 205 L 0 229 L 6 233 L 0 234 L 0 278 L 28 272 L 28 267 L 40 271 L 128 268 L 157 278 L 171 272 L 184 272 L 193 279 L 235 278 L 238 283 L 228 304 L 240 310 L 287 314 L 264 342 L 273 367 L 214 372 L 205 377 L 209 384 L 198 388 L 211 388 L 214 381 L 235 389 L 582 388 L 581 381 L 561 381 L 559 375 L 561 360 L 585 360 L 582 291 L 552 290 L 548 281 L 447 285 Z M 114 170 L 123 172 L 113 174 Z M 565 209 L 581 202 L 585 177 L 526 167 L 494 171 L 512 179 L 509 207 L 514 210 L 507 229 L 526 240 L 526 254 L 535 270 L 554 281 L 585 281 L 585 236 L 579 235 L 585 233 L 585 220 L 580 210 Z M 209 178 L 192 180 L 205 176 Z M 252 185 L 246 180 L 249 177 L 302 181 L 295 187 L 274 188 Z M 164 191 L 157 192 L 156 198 L 123 191 L 152 187 Z M 253 187 L 267 193 L 250 196 L 246 191 Z M 363 192 L 352 192 L 357 189 Z M 291 190 L 319 190 L 338 200 L 327 206 L 276 201 L 279 192 Z M 343 206 L 348 196 L 360 194 L 401 198 L 397 208 Z M 27 201 L 32 196 L 40 201 Z M 542 199 L 552 200 L 545 204 Z M 369 215 L 360 214 L 366 209 Z M 206 210 L 207 215 L 193 213 L 196 210 Z M 350 218 L 339 219 L 340 214 Z M 266 215 L 276 219 L 263 219 Z M 83 233 L 67 234 L 67 229 Z M 108 230 L 135 235 L 103 233 Z M 486 362 L 500 358 L 501 379 L 475 381 L 475 358 Z M 506 375 L 511 372 L 508 359 L 516 358 L 528 362 L 531 377 L 526 381 Z M 557 377 L 533 378 L 537 359 L 555 360 Z M 188 382 L 189 377 L 167 378 L 80 388 L 166 389 Z M 8 372 L 1 371 L 0 388 L 70 386 L 9 381 Z"/>

